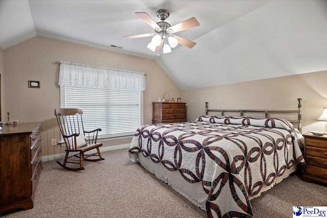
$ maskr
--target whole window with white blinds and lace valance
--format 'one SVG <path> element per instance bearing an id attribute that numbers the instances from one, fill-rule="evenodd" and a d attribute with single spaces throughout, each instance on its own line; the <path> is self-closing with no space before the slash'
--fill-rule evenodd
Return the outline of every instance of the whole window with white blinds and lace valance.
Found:
<path id="1" fill-rule="evenodd" d="M 99 138 L 130 136 L 143 124 L 145 74 L 60 62 L 60 107 L 80 108 L 85 131 Z"/>

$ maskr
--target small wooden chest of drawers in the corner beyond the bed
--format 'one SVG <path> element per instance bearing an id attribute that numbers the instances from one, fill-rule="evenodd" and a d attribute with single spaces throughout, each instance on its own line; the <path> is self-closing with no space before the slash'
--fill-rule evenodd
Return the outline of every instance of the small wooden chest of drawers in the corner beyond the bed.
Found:
<path id="1" fill-rule="evenodd" d="M 152 124 L 186 122 L 186 103 L 153 102 Z"/>

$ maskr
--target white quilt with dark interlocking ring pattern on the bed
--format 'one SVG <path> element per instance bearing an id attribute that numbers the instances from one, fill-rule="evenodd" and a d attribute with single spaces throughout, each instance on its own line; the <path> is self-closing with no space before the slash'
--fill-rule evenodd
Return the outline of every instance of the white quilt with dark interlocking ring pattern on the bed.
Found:
<path id="1" fill-rule="evenodd" d="M 285 119 L 206 115 L 195 122 L 144 125 L 129 152 L 202 183 L 207 217 L 250 217 L 249 196 L 304 164 L 302 140 Z"/>

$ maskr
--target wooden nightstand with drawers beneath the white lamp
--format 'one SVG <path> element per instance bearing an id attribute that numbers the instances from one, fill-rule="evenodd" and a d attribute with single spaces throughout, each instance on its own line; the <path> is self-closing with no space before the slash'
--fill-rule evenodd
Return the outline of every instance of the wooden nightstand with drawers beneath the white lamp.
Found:
<path id="1" fill-rule="evenodd" d="M 306 171 L 303 180 L 316 181 L 327 185 L 327 135 L 303 134 L 306 141 Z"/>

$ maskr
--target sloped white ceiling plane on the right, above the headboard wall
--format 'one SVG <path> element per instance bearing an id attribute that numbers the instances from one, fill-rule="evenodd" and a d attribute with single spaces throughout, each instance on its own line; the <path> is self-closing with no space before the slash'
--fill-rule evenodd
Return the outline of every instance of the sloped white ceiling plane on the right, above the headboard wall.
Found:
<path id="1" fill-rule="evenodd" d="M 275 1 L 195 42 L 156 60 L 180 89 L 327 70 L 327 1 Z"/>

